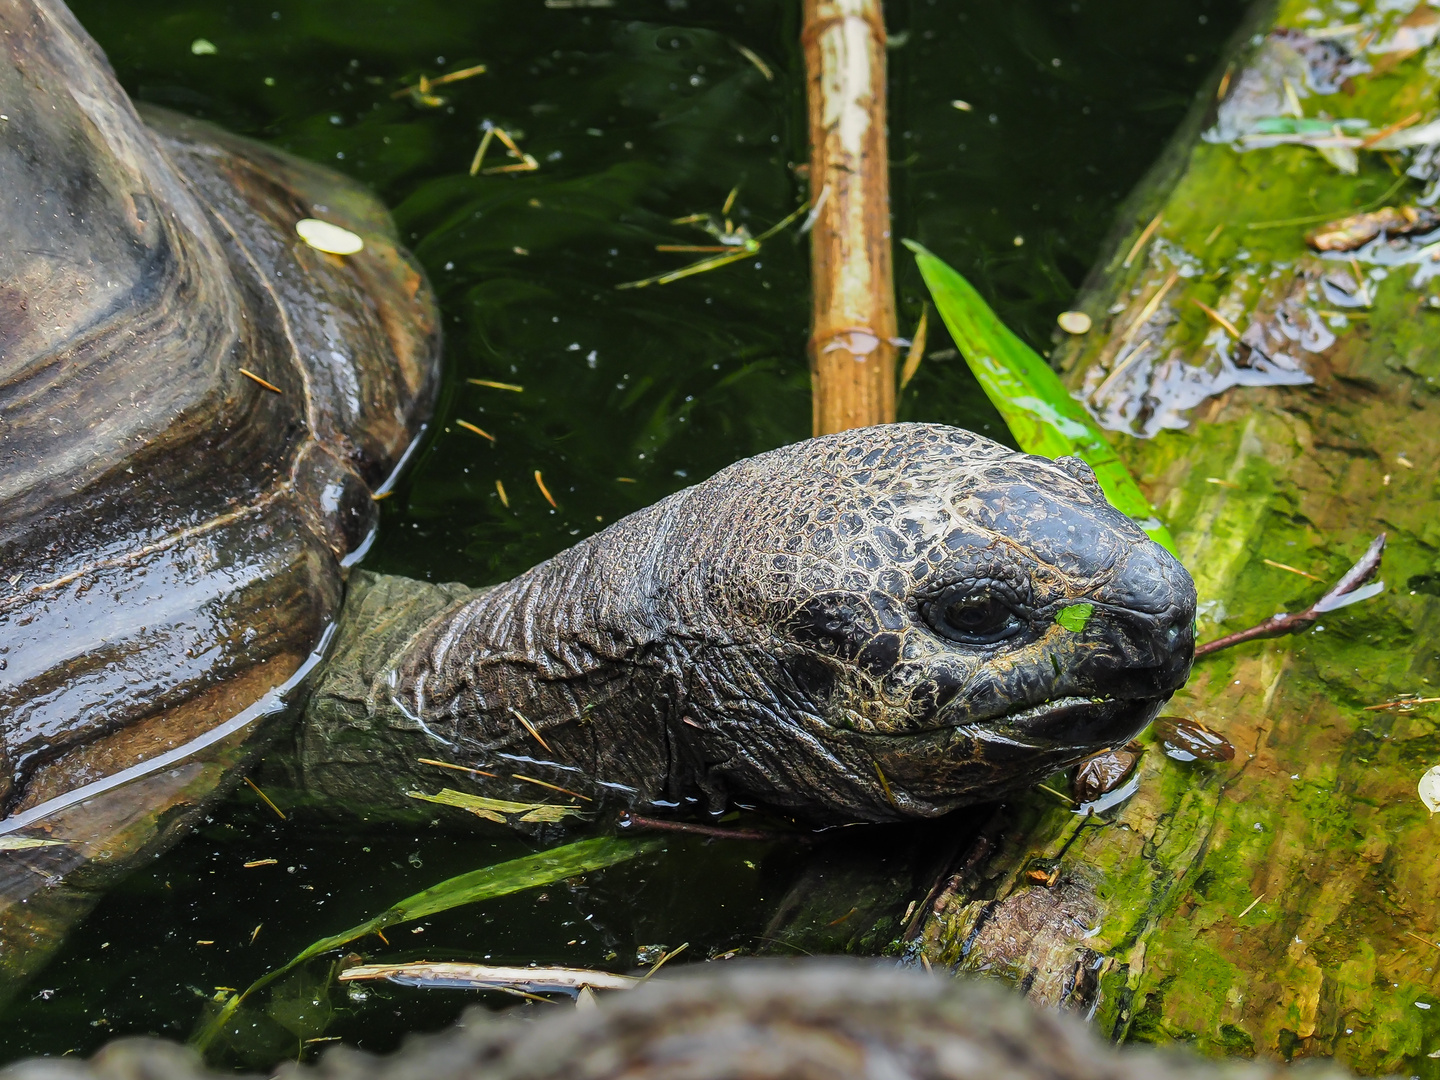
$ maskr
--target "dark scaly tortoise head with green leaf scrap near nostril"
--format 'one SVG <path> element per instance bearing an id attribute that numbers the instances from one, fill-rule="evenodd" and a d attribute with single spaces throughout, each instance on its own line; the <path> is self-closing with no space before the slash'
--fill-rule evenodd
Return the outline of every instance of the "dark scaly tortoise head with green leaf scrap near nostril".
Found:
<path id="1" fill-rule="evenodd" d="M 1189 674 L 1189 575 L 1074 458 L 887 425 L 684 501 L 716 621 L 687 719 L 768 801 L 871 818 L 985 801 L 1125 743 Z"/>

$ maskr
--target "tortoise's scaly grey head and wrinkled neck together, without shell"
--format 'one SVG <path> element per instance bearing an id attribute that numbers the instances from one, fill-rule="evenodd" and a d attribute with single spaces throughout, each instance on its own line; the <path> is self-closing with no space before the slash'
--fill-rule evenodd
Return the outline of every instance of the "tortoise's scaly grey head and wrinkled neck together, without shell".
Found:
<path id="1" fill-rule="evenodd" d="M 883 821 L 1130 739 L 1185 681 L 1194 605 L 1083 464 L 887 425 L 732 465 L 399 645 L 387 624 L 383 661 L 361 629 L 327 681 L 366 654 L 357 723 L 464 765 Z"/>

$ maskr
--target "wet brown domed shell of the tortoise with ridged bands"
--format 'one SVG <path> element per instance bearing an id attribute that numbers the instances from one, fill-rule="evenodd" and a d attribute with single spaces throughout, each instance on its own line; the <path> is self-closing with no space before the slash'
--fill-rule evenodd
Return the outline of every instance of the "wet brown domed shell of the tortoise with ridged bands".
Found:
<path id="1" fill-rule="evenodd" d="M 63 841 L 0 845 L 3 923 L 27 873 L 161 842 L 284 711 L 439 330 L 373 196 L 141 120 L 58 0 L 0 3 L 0 840 Z"/>

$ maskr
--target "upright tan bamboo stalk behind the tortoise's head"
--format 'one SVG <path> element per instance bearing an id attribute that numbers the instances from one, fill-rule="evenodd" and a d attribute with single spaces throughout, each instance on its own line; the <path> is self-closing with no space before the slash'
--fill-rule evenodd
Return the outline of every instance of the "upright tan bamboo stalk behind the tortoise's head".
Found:
<path id="1" fill-rule="evenodd" d="M 880 0 L 805 0 L 816 435 L 896 418 L 886 30 Z"/>

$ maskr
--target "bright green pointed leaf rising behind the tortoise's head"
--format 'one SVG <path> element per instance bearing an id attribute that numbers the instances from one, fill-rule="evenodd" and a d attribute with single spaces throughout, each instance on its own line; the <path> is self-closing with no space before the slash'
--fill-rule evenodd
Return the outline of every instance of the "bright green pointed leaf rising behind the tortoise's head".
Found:
<path id="1" fill-rule="evenodd" d="M 1174 553 L 1175 540 L 1156 520 L 1139 484 L 1050 364 L 999 321 L 959 272 L 914 240 L 904 245 L 914 252 L 950 337 L 1020 448 L 1047 458 L 1073 454 L 1084 461 L 1094 469 L 1112 505 L 1133 517 L 1152 540 Z"/>

